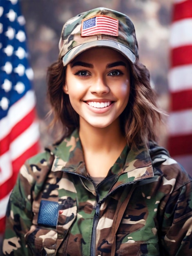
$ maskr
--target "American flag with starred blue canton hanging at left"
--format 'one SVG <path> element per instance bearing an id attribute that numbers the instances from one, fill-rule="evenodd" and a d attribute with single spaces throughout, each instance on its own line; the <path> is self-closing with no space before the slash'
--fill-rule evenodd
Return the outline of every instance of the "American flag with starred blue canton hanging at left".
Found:
<path id="1" fill-rule="evenodd" d="M 0 1 L 0 233 L 18 171 L 38 153 L 33 71 L 26 48 L 25 19 L 17 0 Z"/>

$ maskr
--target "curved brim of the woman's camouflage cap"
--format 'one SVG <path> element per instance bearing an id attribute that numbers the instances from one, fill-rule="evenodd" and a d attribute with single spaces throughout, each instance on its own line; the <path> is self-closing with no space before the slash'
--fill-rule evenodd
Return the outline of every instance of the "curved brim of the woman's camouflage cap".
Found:
<path id="1" fill-rule="evenodd" d="M 117 43 L 110 40 L 98 40 L 98 41 L 92 41 L 87 42 L 82 45 L 78 45 L 72 49 L 69 50 L 64 56 L 63 56 L 63 66 L 65 67 L 67 64 L 69 64 L 76 56 L 78 56 L 80 53 L 93 48 L 93 47 L 109 47 L 112 48 L 121 54 L 125 56 L 125 58 L 129 59 L 133 64 L 135 63 L 136 57 L 134 53 L 127 48 L 126 46 L 122 45 L 121 43 Z"/>

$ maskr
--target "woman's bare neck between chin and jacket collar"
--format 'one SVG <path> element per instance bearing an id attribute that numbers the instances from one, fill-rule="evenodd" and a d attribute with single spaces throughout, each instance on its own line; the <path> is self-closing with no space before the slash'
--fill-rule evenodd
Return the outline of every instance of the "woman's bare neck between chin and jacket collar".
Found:
<path id="1" fill-rule="evenodd" d="M 106 177 L 126 144 L 119 120 L 105 128 L 80 121 L 79 136 L 87 173 L 92 177 Z"/>

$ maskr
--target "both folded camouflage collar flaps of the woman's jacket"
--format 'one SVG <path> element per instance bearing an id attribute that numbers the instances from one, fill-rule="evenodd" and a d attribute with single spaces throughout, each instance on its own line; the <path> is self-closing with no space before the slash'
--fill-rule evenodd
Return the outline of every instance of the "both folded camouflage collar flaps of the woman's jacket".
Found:
<path id="1" fill-rule="evenodd" d="M 52 171 L 67 171 L 87 177 L 83 150 L 77 130 L 74 130 L 58 146 L 49 147 L 49 150 L 55 155 Z M 152 161 L 148 148 L 140 147 L 137 151 L 133 151 L 126 146 L 109 173 L 116 176 L 115 186 L 153 177 Z"/>

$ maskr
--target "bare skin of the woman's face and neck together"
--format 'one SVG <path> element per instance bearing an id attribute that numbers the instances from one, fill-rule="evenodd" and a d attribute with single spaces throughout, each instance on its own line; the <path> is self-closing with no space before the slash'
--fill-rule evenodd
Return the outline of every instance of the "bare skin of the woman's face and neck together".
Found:
<path id="1" fill-rule="evenodd" d="M 113 49 L 88 49 L 67 65 L 64 92 L 79 116 L 86 169 L 92 177 L 105 177 L 126 145 L 120 115 L 129 100 L 129 63 Z M 85 142 L 87 134 L 92 134 L 91 144 Z M 106 154 L 108 159 L 103 159 Z M 98 163 L 98 159 L 103 161 Z"/>

